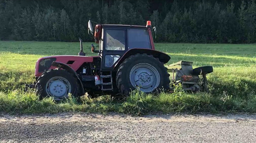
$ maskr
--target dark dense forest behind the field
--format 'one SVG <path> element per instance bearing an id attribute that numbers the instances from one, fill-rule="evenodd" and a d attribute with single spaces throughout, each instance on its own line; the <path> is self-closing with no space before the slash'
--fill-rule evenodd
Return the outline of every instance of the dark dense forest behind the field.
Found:
<path id="1" fill-rule="evenodd" d="M 255 43 L 255 0 L 0 0 L 0 40 L 92 41 L 88 20 L 157 27 L 156 42 Z"/>

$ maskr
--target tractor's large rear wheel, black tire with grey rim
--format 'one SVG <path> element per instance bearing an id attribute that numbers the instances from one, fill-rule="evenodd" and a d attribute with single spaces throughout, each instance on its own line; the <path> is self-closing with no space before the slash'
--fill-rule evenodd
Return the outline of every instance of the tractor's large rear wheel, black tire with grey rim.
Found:
<path id="1" fill-rule="evenodd" d="M 117 71 L 119 93 L 129 96 L 137 87 L 145 93 L 154 93 L 157 89 L 169 89 L 167 68 L 158 58 L 147 54 L 135 54 L 123 61 Z"/>

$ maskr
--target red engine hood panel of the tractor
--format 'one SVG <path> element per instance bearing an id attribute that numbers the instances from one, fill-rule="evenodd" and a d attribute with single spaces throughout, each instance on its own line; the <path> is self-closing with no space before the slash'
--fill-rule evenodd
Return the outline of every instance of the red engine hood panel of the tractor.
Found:
<path id="1" fill-rule="evenodd" d="M 73 64 L 68 64 L 74 71 L 77 71 L 77 69 L 84 63 L 84 62 L 93 62 L 93 57 L 96 56 L 46 56 L 39 58 L 36 61 L 36 69 L 35 69 L 35 76 L 39 77 L 42 72 L 38 72 L 39 69 L 39 62 L 42 59 L 48 59 L 48 58 L 56 58 L 56 61 L 62 62 L 64 64 L 67 64 L 68 61 L 74 61 Z M 51 66 L 49 69 L 55 69 L 55 66 Z"/>

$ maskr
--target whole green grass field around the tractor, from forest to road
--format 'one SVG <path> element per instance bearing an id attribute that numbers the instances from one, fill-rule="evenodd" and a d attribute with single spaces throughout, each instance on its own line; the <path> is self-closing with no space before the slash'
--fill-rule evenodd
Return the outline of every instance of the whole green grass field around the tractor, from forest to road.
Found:
<path id="1" fill-rule="evenodd" d="M 84 43 L 84 51 L 90 52 Z M 144 95 L 138 91 L 125 102 L 111 102 L 108 96 L 70 97 L 61 103 L 39 101 L 33 91 L 24 93 L 25 83 L 34 82 L 36 60 L 49 55 L 77 55 L 79 42 L 0 41 L 0 111 L 45 113 L 64 111 L 122 112 L 130 114 L 173 112 L 256 112 L 256 44 L 171 44 L 156 43 L 156 49 L 171 56 L 168 64 L 193 61 L 193 68 L 212 65 L 208 75 L 210 94 L 187 94 L 179 88 L 173 94 Z"/>

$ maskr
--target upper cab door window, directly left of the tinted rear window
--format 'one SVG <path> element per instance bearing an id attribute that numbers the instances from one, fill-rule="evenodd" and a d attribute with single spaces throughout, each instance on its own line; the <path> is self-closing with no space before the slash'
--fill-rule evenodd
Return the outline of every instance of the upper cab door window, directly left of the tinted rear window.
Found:
<path id="1" fill-rule="evenodd" d="M 124 30 L 106 30 L 106 50 L 125 50 Z"/>

